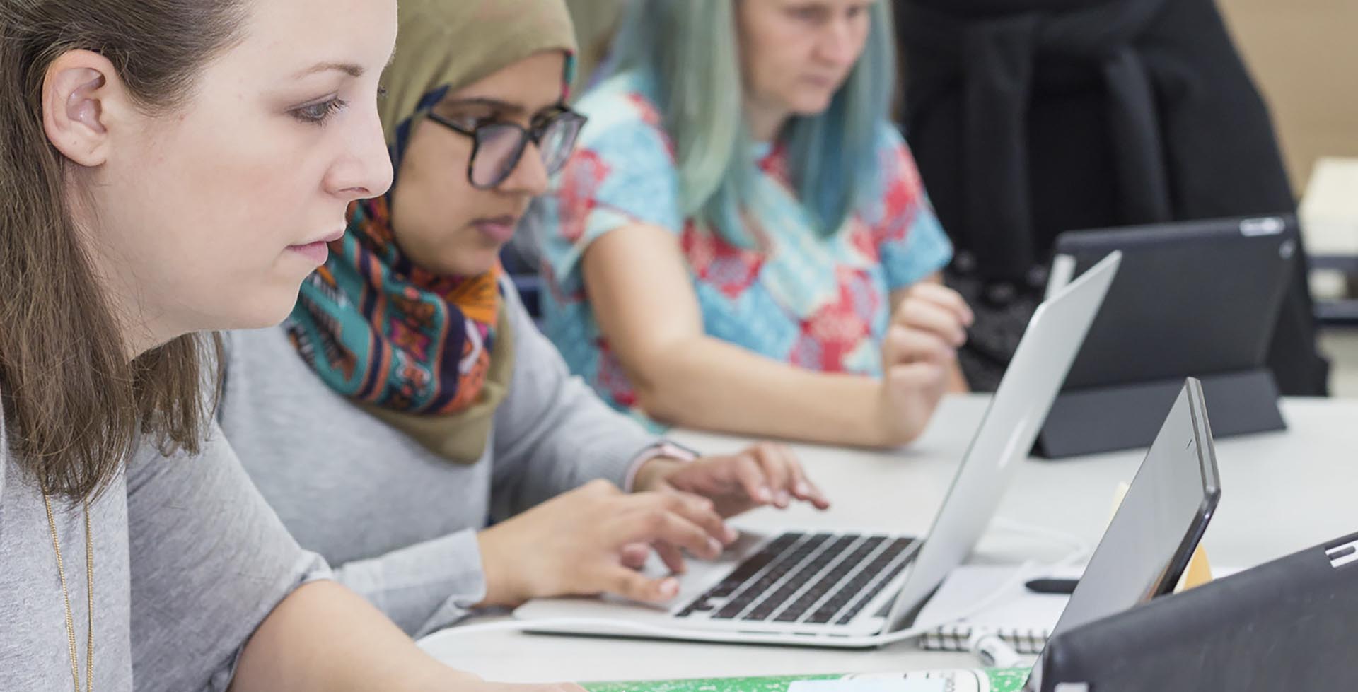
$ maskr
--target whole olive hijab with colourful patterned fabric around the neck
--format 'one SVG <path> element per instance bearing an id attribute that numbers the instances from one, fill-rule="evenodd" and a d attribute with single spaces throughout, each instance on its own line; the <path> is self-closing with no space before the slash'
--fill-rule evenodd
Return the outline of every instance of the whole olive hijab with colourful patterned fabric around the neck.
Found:
<path id="1" fill-rule="evenodd" d="M 392 167 L 399 172 L 410 133 L 447 94 L 574 47 L 562 0 L 402 0 L 379 103 Z M 390 193 L 350 205 L 348 232 L 303 284 L 288 334 L 331 389 L 433 453 L 475 463 L 513 373 L 502 270 L 439 277 L 414 266 L 388 205 Z"/>

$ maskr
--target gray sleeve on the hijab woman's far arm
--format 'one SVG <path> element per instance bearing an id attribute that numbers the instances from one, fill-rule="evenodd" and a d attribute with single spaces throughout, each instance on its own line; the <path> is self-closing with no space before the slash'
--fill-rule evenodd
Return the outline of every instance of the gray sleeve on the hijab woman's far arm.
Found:
<path id="1" fill-rule="evenodd" d="M 513 288 L 505 293 L 516 360 L 509 396 L 496 411 L 492 517 L 511 517 L 598 478 L 623 487 L 633 460 L 659 440 L 573 377 Z"/>

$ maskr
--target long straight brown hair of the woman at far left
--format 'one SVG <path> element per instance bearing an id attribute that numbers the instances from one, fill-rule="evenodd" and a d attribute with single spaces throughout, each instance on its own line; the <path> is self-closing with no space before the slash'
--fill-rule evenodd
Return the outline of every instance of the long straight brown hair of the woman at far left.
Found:
<path id="1" fill-rule="evenodd" d="M 239 0 L 0 0 L 0 403 L 10 450 L 46 491 L 96 494 L 139 434 L 197 452 L 215 387 L 205 347 L 217 343 L 181 337 L 128 362 L 69 212 L 71 163 L 42 128 L 46 71 L 92 50 L 139 106 L 168 111 L 244 20 Z"/>

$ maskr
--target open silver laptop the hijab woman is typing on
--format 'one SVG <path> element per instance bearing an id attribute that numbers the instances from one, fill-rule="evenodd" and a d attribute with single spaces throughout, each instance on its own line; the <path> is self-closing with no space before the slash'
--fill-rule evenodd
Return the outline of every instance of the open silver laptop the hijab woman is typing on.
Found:
<path id="1" fill-rule="evenodd" d="M 928 539 L 888 528 L 747 533 L 714 562 L 691 560 L 669 605 L 539 598 L 515 617 L 540 632 L 843 647 L 904 627 L 990 524 L 1120 259 L 1111 254 L 1038 307 Z"/>

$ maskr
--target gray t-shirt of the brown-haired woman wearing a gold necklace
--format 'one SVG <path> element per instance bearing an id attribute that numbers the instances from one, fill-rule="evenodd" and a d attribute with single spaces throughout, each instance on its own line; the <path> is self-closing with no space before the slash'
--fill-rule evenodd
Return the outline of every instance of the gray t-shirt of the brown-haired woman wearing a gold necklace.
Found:
<path id="1" fill-rule="evenodd" d="M 216 426 L 213 426 L 216 427 Z M 84 514 L 53 499 L 86 685 Z M 273 607 L 327 575 L 242 471 L 220 431 L 197 457 L 139 445 L 90 505 L 94 689 L 225 689 L 236 655 Z M 71 689 L 65 605 L 37 483 L 0 419 L 0 691 Z"/>

